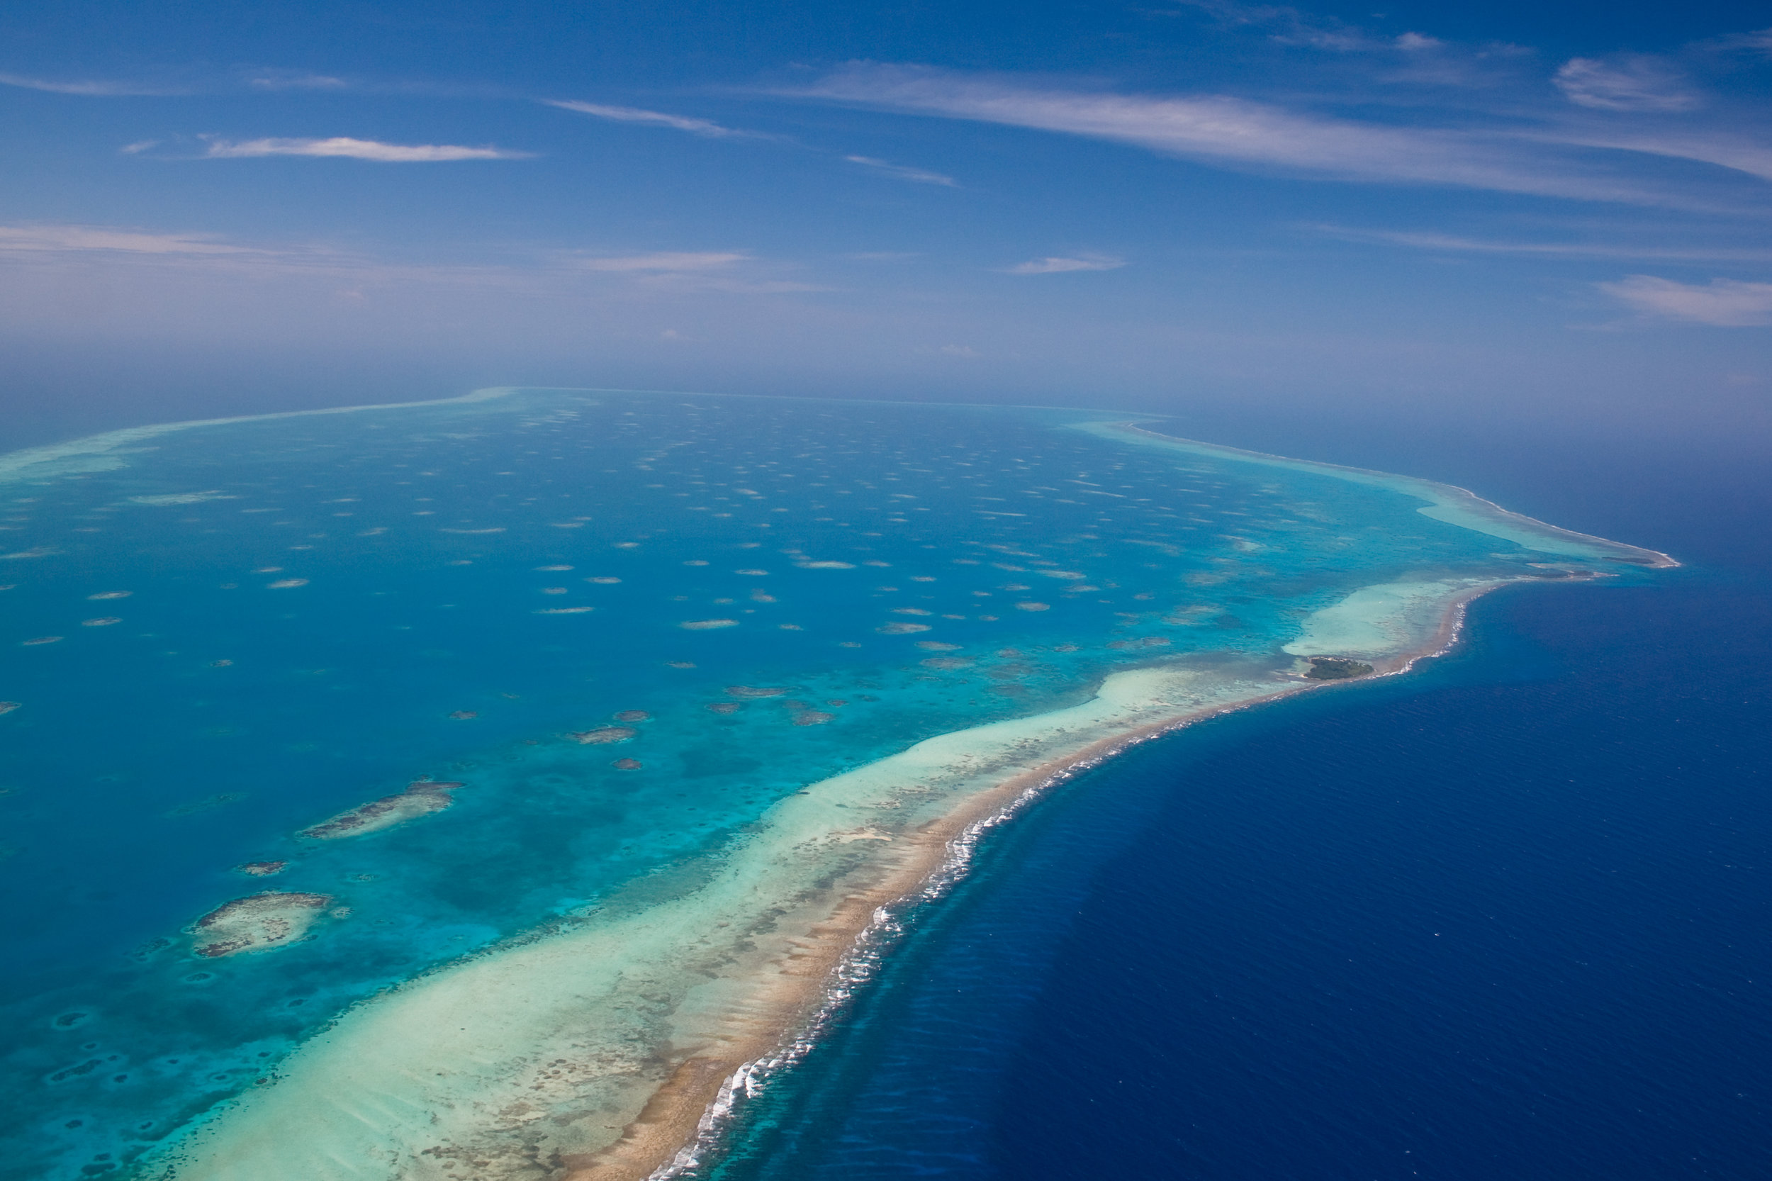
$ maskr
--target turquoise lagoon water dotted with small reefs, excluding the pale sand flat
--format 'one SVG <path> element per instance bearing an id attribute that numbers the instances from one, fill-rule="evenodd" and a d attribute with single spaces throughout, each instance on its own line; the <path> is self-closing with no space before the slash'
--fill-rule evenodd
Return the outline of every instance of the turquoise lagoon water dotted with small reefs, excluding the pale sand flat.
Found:
<path id="1" fill-rule="evenodd" d="M 1092 420 L 525 390 L 14 470 L 0 1176 L 115 1170 L 353 1002 L 622 887 L 668 897 L 845 768 L 1115 669 L 1279 661 L 1359 587 L 1545 560 L 1393 488 Z M 425 777 L 464 784 L 448 810 L 298 837 Z M 331 910 L 197 958 L 190 924 L 262 888 Z"/>

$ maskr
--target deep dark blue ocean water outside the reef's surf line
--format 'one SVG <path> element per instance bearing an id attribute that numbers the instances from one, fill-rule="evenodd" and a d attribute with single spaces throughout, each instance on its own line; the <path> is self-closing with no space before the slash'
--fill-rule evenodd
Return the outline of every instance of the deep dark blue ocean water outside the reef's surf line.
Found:
<path id="1" fill-rule="evenodd" d="M 709 1172 L 1772 1176 L 1763 470 L 1729 443 L 1446 459 L 1692 566 L 1497 592 L 1411 677 L 1070 784 Z"/>

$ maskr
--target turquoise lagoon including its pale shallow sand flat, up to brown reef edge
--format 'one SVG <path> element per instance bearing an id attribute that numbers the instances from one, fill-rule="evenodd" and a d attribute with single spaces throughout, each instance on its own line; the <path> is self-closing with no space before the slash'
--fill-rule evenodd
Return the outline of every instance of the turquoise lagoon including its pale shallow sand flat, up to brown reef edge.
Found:
<path id="1" fill-rule="evenodd" d="M 500 390 L 0 458 L 0 1177 L 549 1176 L 755 972 L 718 931 L 966 793 L 1659 560 L 1120 418 Z M 264 890 L 312 927 L 198 954 Z"/>

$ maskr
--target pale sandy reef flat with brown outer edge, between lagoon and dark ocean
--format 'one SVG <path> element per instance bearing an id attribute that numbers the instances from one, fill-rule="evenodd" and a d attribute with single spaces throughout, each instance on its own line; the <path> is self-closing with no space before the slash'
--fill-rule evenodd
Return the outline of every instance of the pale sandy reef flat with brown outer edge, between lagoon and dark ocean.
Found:
<path id="1" fill-rule="evenodd" d="M 1380 628 L 1398 640 L 1414 631 L 1407 647 L 1366 653 L 1380 674 L 1444 651 L 1462 605 L 1499 583 L 1439 585 L 1430 635 L 1419 610 Z M 273 1085 L 158 1151 L 152 1176 L 670 1176 L 719 1131 L 705 1115 L 728 1080 L 792 1044 L 882 908 L 950 869 L 980 825 L 1132 743 L 1324 686 L 1182 660 L 1115 674 L 1079 706 L 943 734 L 815 784 L 698 881 L 666 883 L 661 901 L 645 899 L 641 880 L 579 922 L 346 1013 Z"/>

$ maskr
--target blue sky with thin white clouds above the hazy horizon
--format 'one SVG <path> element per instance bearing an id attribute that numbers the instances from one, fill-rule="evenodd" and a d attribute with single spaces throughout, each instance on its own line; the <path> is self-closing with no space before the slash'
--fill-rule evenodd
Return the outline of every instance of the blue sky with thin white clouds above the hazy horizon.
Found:
<path id="1" fill-rule="evenodd" d="M 503 383 L 1765 431 L 1767 23 L 7 5 L 0 442 Z"/>

